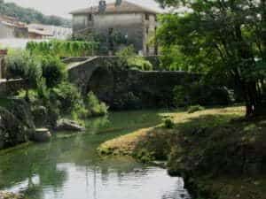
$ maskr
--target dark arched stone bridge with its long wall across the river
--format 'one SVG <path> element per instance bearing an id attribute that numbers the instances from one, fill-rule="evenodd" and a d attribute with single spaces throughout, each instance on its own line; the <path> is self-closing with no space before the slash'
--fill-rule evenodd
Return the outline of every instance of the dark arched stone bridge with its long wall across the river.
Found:
<path id="1" fill-rule="evenodd" d="M 170 107 L 173 88 L 196 80 L 184 72 L 122 70 L 118 57 L 95 57 L 69 69 L 69 80 L 86 95 L 93 91 L 112 109 Z"/>

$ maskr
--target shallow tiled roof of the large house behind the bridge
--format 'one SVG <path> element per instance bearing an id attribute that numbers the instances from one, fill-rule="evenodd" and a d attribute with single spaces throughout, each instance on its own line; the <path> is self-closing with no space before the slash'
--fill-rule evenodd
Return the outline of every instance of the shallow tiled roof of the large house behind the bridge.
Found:
<path id="1" fill-rule="evenodd" d="M 136 13 L 136 12 L 145 12 L 145 13 L 153 13 L 157 14 L 158 11 L 153 11 L 152 9 L 145 8 L 141 5 L 129 3 L 127 1 L 122 1 L 120 5 L 106 4 L 106 11 L 105 13 Z M 70 14 L 78 15 L 78 14 L 89 14 L 89 13 L 98 13 L 98 6 L 80 9 L 77 11 L 71 11 Z"/>

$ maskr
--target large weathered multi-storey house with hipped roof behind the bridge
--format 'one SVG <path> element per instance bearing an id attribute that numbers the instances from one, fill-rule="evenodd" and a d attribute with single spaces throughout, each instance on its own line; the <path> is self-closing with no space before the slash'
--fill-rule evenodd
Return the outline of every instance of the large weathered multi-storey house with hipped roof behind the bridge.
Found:
<path id="1" fill-rule="evenodd" d="M 119 2 L 119 1 L 117 1 Z M 157 55 L 155 44 L 148 44 L 149 38 L 156 32 L 158 11 L 143 6 L 122 1 L 119 4 L 106 4 L 101 0 L 98 6 L 72 11 L 73 34 L 105 35 L 108 49 L 119 48 L 113 46 L 111 35 L 120 34 L 127 44 L 133 44 L 139 54 Z"/>

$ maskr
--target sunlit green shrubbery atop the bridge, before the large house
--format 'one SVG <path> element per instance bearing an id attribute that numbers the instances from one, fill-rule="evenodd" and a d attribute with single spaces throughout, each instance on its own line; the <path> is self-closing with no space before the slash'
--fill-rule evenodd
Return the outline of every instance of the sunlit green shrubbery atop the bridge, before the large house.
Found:
<path id="1" fill-rule="evenodd" d="M 135 68 L 142 71 L 152 71 L 153 65 L 144 57 L 137 56 L 134 46 L 130 45 L 116 53 L 120 57 L 120 65 L 127 68 Z"/>

